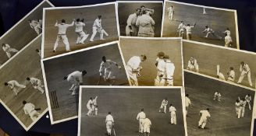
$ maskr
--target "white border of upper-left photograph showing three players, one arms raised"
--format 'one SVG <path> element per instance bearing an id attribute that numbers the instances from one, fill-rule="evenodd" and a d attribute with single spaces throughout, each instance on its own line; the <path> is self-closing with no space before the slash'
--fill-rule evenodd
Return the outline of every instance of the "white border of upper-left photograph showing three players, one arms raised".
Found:
<path id="1" fill-rule="evenodd" d="M 115 10 L 116 10 L 116 29 L 117 29 L 117 36 L 119 37 L 120 35 L 120 30 L 119 30 L 119 18 L 118 18 L 118 9 L 117 9 L 117 3 L 116 2 L 106 2 L 106 3 L 100 3 L 100 4 L 94 4 L 94 5 L 80 5 L 80 6 L 65 6 L 65 7 L 52 7 L 52 8 L 44 8 L 43 10 L 43 28 L 44 28 L 44 23 L 45 23 L 45 11 L 46 10 L 56 10 L 56 9 L 84 9 L 84 8 L 91 8 L 91 7 L 97 7 L 101 5 L 114 5 Z M 41 42 L 41 58 L 44 59 L 44 30 L 42 30 L 42 42 Z M 79 50 L 78 50 L 79 51 Z M 70 51 L 73 52 L 73 51 Z M 66 53 L 64 53 L 66 54 Z M 58 55 L 57 55 L 58 56 Z M 51 57 L 47 57 L 51 58 Z"/>

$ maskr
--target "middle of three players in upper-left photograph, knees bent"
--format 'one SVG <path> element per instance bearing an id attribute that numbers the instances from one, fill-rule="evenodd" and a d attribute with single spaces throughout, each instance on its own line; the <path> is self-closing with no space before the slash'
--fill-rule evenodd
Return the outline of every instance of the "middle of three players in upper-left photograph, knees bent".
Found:
<path id="1" fill-rule="evenodd" d="M 77 40 L 76 44 L 84 44 L 84 40 L 87 39 L 89 34 L 84 33 L 83 26 L 85 26 L 84 19 L 76 19 L 76 34 L 77 34 Z"/>

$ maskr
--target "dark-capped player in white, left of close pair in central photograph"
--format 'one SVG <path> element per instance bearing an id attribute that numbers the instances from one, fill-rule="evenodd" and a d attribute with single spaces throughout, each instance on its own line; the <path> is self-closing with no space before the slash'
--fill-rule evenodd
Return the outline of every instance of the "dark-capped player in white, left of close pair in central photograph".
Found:
<path id="1" fill-rule="evenodd" d="M 165 75 L 165 60 L 164 60 L 164 56 L 165 53 L 160 51 L 157 54 L 157 59 L 156 59 L 156 63 L 155 66 L 157 68 L 157 74 L 156 74 L 156 78 L 155 78 L 155 86 L 164 86 L 165 85 L 165 79 L 164 79 L 164 75 Z M 162 83 L 164 82 L 164 83 Z"/>

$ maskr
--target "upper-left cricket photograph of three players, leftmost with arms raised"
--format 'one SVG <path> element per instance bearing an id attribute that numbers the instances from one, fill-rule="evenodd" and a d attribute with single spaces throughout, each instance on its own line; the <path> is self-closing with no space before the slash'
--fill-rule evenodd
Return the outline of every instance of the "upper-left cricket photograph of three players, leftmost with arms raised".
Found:
<path id="1" fill-rule="evenodd" d="M 118 40 L 116 2 L 44 9 L 42 58 Z"/>

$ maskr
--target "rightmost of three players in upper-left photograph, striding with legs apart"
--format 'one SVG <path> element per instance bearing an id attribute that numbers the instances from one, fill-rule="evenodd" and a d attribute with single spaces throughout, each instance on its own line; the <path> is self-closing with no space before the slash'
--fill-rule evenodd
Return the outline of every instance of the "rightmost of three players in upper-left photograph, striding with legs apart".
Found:
<path id="1" fill-rule="evenodd" d="M 94 25 L 92 26 L 92 35 L 90 38 L 90 41 L 94 41 L 94 37 L 96 36 L 96 33 L 100 33 L 100 40 L 105 40 L 103 38 L 104 34 L 108 37 L 108 33 L 102 28 L 101 26 L 101 16 L 98 16 L 97 19 L 94 21 Z"/>

